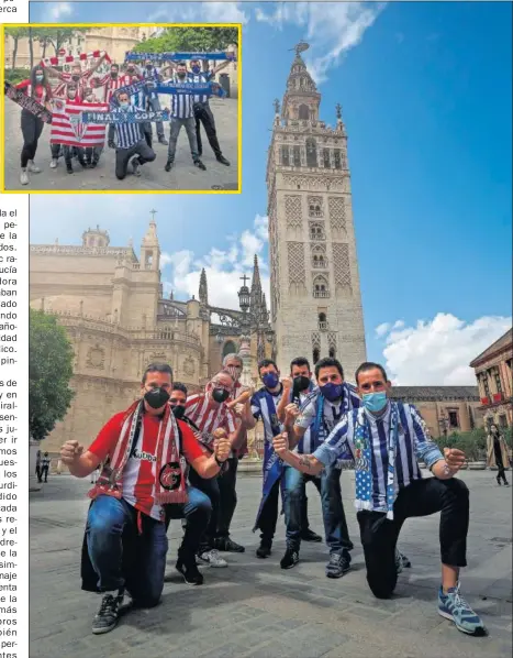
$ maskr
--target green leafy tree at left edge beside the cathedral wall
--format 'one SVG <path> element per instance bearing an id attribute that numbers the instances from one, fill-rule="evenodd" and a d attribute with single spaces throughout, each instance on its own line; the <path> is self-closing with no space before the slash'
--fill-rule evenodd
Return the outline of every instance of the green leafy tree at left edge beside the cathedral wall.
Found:
<path id="1" fill-rule="evenodd" d="M 29 427 L 41 441 L 71 404 L 74 351 L 56 316 L 30 309 Z"/>

